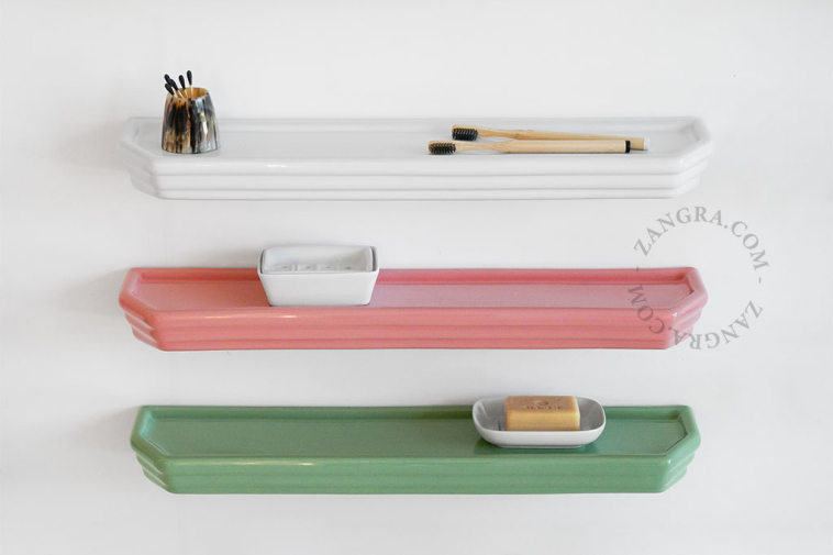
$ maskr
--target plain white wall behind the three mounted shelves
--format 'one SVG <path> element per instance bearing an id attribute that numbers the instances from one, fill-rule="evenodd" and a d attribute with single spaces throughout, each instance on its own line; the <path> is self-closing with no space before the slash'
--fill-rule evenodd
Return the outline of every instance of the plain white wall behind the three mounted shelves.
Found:
<path id="1" fill-rule="evenodd" d="M 831 498 L 833 10 L 828 1 L 4 0 L 0 551 L 821 553 Z M 498 40 L 497 37 L 500 37 Z M 191 68 L 224 118 L 699 115 L 717 149 L 671 200 L 162 201 L 116 156 Z M 368 145 L 368 147 L 378 147 Z M 749 223 L 633 251 L 669 210 Z M 692 265 L 719 348 L 162 353 L 116 303 L 133 266 L 252 266 L 276 242 L 388 267 Z M 760 285 L 754 281 L 763 276 Z M 662 495 L 173 496 L 127 445 L 146 403 L 436 404 L 570 391 L 686 403 L 702 446 Z"/>

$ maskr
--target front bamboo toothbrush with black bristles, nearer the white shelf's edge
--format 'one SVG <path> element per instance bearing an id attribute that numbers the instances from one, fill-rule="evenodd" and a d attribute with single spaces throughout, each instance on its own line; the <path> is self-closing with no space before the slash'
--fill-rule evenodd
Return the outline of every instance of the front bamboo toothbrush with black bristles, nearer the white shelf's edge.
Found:
<path id="1" fill-rule="evenodd" d="M 466 151 L 497 151 L 510 154 L 606 154 L 629 153 L 631 141 L 625 138 L 589 141 L 499 141 L 497 143 L 469 143 L 465 141 L 432 141 L 431 154 L 454 154 Z"/>

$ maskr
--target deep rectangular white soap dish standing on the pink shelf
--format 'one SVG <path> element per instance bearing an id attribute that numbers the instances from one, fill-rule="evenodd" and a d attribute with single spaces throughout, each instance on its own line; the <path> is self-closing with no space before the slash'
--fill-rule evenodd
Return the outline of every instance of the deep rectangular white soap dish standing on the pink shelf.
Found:
<path id="1" fill-rule="evenodd" d="M 284 245 L 260 254 L 257 275 L 273 307 L 353 307 L 373 297 L 373 246 Z"/>

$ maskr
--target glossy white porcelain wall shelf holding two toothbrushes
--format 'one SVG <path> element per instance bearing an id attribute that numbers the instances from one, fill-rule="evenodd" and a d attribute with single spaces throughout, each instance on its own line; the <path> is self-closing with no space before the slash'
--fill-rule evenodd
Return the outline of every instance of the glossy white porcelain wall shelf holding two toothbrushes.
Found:
<path id="1" fill-rule="evenodd" d="M 643 136 L 630 154 L 427 153 L 455 123 Z M 220 148 L 170 154 L 160 120 L 131 120 L 121 154 L 160 199 L 509 200 L 669 198 L 692 189 L 713 149 L 696 118 L 585 120 L 225 120 Z"/>

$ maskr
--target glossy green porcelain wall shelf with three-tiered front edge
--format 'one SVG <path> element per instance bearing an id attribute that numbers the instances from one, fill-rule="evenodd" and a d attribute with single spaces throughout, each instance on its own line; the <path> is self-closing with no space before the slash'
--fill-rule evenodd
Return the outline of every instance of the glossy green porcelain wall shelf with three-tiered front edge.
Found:
<path id="1" fill-rule="evenodd" d="M 470 407 L 143 407 L 131 445 L 174 493 L 664 491 L 700 444 L 688 407 L 609 407 L 577 449 L 481 440 Z"/>

